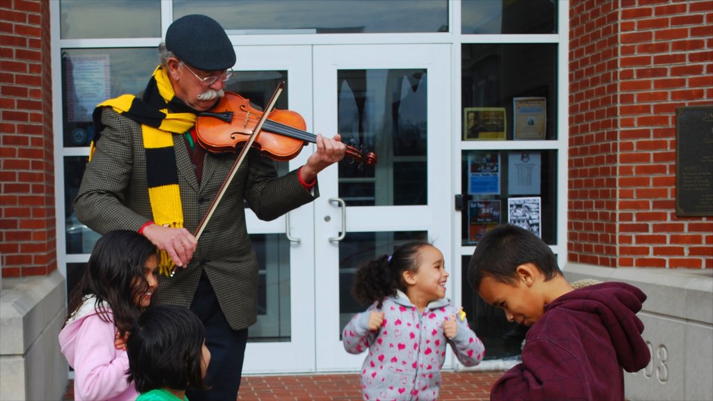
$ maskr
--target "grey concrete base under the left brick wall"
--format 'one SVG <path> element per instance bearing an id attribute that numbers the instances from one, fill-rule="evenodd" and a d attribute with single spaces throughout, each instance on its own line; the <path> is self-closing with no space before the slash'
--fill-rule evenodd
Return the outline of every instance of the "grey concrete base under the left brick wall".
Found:
<path id="1" fill-rule="evenodd" d="M 66 315 L 66 285 L 46 277 L 4 278 L 0 291 L 0 400 L 61 400 L 67 361 L 57 336 Z"/>

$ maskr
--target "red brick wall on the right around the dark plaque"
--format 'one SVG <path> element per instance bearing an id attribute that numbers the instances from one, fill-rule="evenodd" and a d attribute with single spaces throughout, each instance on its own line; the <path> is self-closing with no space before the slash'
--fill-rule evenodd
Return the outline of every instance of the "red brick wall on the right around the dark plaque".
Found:
<path id="1" fill-rule="evenodd" d="M 713 105 L 713 1 L 570 2 L 568 260 L 713 268 L 713 218 L 679 218 L 676 109 Z"/>

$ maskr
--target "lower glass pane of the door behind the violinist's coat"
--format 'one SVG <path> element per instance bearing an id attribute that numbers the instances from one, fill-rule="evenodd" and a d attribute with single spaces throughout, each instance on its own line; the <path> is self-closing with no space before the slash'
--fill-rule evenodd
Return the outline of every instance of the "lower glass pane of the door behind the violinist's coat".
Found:
<path id="1" fill-rule="evenodd" d="M 284 234 L 251 234 L 260 266 L 257 284 L 257 323 L 248 341 L 279 342 L 291 337 L 289 240 Z"/>

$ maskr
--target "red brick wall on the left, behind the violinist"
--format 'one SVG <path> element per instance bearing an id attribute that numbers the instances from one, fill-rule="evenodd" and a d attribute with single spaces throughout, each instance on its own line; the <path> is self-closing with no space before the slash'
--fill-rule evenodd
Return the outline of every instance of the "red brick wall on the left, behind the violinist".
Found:
<path id="1" fill-rule="evenodd" d="M 0 1 L 2 276 L 57 268 L 49 2 Z"/>

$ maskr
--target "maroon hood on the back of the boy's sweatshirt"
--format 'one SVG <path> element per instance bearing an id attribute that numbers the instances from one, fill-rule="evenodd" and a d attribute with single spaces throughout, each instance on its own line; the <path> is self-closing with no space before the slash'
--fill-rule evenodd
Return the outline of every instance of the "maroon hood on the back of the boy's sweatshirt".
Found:
<path id="1" fill-rule="evenodd" d="M 548 304 L 552 308 L 598 315 L 614 345 L 617 359 L 627 372 L 637 372 L 650 360 L 649 348 L 641 337 L 644 323 L 636 313 L 646 300 L 642 290 L 627 283 L 602 283 L 571 291 Z"/>

